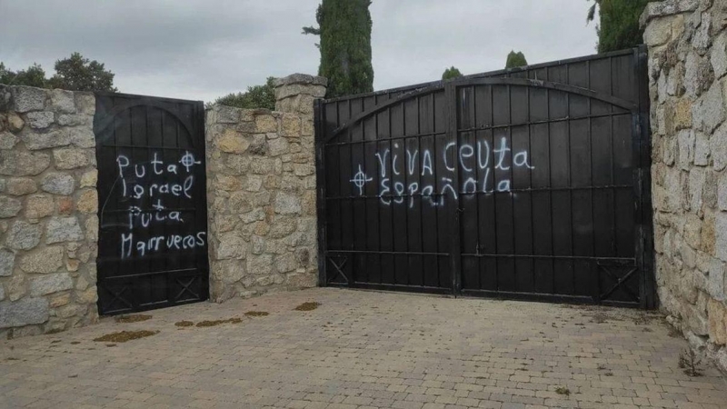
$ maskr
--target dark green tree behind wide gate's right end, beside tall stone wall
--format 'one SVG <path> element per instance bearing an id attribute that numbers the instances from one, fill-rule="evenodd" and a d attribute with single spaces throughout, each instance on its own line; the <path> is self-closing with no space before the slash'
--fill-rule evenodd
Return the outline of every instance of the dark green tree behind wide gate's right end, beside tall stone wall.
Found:
<path id="1" fill-rule="evenodd" d="M 590 0 L 589 0 L 590 1 Z M 599 11 L 598 52 L 631 48 L 642 44 L 643 30 L 639 25 L 639 17 L 650 0 L 593 0 L 588 9 L 586 20 L 595 19 L 596 7 Z"/>

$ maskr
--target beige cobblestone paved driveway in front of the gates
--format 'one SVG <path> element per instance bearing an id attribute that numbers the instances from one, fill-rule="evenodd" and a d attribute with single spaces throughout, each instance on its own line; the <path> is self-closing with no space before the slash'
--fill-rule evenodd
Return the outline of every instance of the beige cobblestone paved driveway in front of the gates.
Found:
<path id="1" fill-rule="evenodd" d="M 0 407 L 727 407 L 725 378 L 683 374 L 686 343 L 641 311 L 312 289 L 148 314 L 0 341 Z M 121 330 L 159 333 L 94 341 Z"/>

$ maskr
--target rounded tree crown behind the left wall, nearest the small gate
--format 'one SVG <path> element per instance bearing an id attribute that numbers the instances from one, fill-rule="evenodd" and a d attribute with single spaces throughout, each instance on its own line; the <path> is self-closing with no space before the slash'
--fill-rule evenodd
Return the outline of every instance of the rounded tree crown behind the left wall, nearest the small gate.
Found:
<path id="1" fill-rule="evenodd" d="M 114 73 L 106 70 L 104 64 L 90 61 L 79 53 L 55 62 L 50 85 L 69 91 L 117 91 Z"/>

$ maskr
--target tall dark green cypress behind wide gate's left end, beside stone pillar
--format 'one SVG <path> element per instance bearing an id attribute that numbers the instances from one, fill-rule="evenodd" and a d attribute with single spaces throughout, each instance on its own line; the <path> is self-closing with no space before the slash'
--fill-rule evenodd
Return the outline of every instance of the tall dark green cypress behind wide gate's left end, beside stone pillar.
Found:
<path id="1" fill-rule="evenodd" d="M 318 27 L 303 34 L 320 36 L 318 75 L 328 78 L 329 98 L 373 91 L 370 0 L 322 0 Z"/>

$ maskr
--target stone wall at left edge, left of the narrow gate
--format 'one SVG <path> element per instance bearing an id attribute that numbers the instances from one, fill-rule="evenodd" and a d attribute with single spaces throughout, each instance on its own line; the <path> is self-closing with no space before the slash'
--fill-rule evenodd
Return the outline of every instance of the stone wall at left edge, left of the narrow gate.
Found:
<path id="1" fill-rule="evenodd" d="M 95 97 L 0 85 L 0 336 L 95 322 Z"/>

